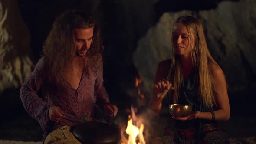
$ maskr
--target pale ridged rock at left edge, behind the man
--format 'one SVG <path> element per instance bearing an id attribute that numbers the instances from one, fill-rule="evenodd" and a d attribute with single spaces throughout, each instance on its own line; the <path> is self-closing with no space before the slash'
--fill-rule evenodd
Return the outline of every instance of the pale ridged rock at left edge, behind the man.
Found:
<path id="1" fill-rule="evenodd" d="M 0 0 L 0 92 L 18 88 L 33 69 L 30 34 L 16 0 Z"/>

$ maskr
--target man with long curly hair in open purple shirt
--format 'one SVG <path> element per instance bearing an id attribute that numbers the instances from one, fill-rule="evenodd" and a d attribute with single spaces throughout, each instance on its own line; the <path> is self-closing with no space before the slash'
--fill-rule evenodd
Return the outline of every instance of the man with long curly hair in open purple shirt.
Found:
<path id="1" fill-rule="evenodd" d="M 63 141 L 67 137 L 56 138 L 56 131 L 69 132 L 84 122 L 82 117 L 96 121 L 96 108 L 108 117 L 117 114 L 103 86 L 102 52 L 99 28 L 91 16 L 71 10 L 56 18 L 43 57 L 20 89 L 24 108 L 44 131 L 43 142 Z M 79 143 L 74 136 L 69 139 Z"/>

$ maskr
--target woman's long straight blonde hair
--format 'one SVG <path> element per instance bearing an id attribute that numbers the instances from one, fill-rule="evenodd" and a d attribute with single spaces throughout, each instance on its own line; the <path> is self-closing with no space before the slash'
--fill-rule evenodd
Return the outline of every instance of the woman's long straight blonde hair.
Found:
<path id="1" fill-rule="evenodd" d="M 191 57 L 193 68 L 196 73 L 196 81 L 198 84 L 197 94 L 199 98 L 203 100 L 203 104 L 213 109 L 216 105 L 213 95 L 213 82 L 211 79 L 211 69 L 213 65 L 217 65 L 213 57 L 207 48 L 205 40 L 203 26 L 197 18 L 193 16 L 181 16 L 175 23 L 182 23 L 187 27 L 189 33 L 190 46 L 192 48 Z M 174 24 L 175 24 L 174 23 Z M 194 36 L 194 38 L 192 37 Z M 194 45 L 193 45 L 194 44 Z M 173 41 L 172 41 L 173 45 Z M 181 60 L 174 52 L 174 46 L 172 46 L 173 56 L 171 61 L 171 68 L 168 73 L 167 79 L 174 84 L 174 91 L 172 93 L 174 103 L 177 103 L 180 95 L 180 88 L 182 83 L 182 70 Z"/>

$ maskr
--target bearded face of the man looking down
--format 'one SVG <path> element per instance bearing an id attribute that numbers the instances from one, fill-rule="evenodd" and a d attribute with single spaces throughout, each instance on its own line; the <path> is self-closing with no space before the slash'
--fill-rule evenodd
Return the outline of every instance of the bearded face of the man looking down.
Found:
<path id="1" fill-rule="evenodd" d="M 74 29 L 74 37 L 76 45 L 76 55 L 85 56 L 92 43 L 93 28 Z"/>

